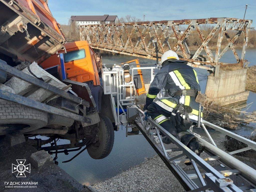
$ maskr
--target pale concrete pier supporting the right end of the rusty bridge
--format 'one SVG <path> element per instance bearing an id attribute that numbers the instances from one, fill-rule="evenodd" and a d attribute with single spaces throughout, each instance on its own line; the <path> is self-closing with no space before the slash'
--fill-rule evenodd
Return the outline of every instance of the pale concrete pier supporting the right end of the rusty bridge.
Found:
<path id="1" fill-rule="evenodd" d="M 246 101 L 249 91 L 246 87 L 247 69 L 219 70 L 218 77 L 213 74 L 207 78 L 205 94 L 209 101 L 217 101 L 220 105 L 228 105 Z"/>

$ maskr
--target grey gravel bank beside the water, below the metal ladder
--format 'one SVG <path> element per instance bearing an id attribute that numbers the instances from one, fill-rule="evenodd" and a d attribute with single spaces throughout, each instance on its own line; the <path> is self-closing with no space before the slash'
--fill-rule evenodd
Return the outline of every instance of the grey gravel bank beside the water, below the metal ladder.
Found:
<path id="1" fill-rule="evenodd" d="M 225 149 L 223 141 L 216 141 L 219 148 Z M 171 156 L 176 156 L 181 152 L 172 152 Z M 208 156 L 202 153 L 201 157 Z M 218 166 L 217 161 L 208 162 L 211 166 Z M 193 166 L 180 164 L 185 170 L 193 170 Z M 199 169 L 200 170 L 200 169 Z M 118 175 L 96 183 L 92 186 L 95 191 L 118 191 L 118 192 L 169 192 L 169 191 L 185 191 L 180 185 L 176 177 L 170 172 L 159 156 L 146 159 L 145 162 L 132 167 Z"/>

